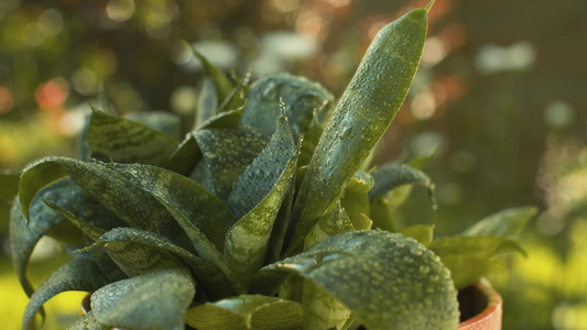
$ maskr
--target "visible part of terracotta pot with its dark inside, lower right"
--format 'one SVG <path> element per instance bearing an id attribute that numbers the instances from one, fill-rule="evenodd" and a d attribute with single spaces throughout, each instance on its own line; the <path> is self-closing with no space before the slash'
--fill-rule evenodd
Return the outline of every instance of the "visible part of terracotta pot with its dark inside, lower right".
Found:
<path id="1" fill-rule="evenodd" d="M 81 314 L 90 309 L 90 295 L 81 300 Z M 477 283 L 458 293 L 460 317 L 458 330 L 501 330 L 501 296 L 489 285 Z M 112 329 L 119 330 L 119 329 Z"/>

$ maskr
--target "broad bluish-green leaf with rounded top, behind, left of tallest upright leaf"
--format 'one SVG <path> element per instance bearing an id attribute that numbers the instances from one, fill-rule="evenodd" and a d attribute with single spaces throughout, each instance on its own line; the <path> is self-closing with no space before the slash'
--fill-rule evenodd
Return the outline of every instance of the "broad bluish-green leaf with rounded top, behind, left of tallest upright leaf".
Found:
<path id="1" fill-rule="evenodd" d="M 283 100 L 285 114 L 294 139 L 304 134 L 317 113 L 323 112 L 334 97 L 318 82 L 290 74 L 279 74 L 257 80 L 247 94 L 247 108 L 240 123 L 250 125 L 271 136 L 281 117 L 280 102 Z"/>

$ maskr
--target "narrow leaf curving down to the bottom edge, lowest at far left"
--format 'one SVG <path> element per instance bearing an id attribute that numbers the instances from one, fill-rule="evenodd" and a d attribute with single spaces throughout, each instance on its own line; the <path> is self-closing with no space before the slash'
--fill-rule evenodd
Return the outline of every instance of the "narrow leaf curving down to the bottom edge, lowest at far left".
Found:
<path id="1" fill-rule="evenodd" d="M 48 299 L 72 290 L 94 292 L 108 282 L 95 262 L 74 258 L 55 271 L 31 296 L 22 317 L 22 330 L 29 330 L 34 315 Z"/>

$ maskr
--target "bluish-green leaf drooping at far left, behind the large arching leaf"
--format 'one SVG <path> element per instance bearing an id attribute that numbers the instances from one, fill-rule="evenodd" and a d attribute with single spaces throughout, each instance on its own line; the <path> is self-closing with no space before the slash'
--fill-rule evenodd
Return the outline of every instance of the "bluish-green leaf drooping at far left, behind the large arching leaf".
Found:
<path id="1" fill-rule="evenodd" d="M 59 180 L 42 189 L 39 193 L 39 197 L 54 199 L 64 207 L 74 207 L 76 204 L 75 187 L 76 185 L 69 179 Z M 25 218 L 21 215 L 18 198 L 10 213 L 10 253 L 12 264 L 28 296 L 33 293 L 33 287 L 25 275 L 31 253 L 43 235 L 64 222 L 64 218 L 45 206 L 39 197 L 31 202 L 33 213 L 29 224 L 26 224 Z M 79 235 L 76 235 L 76 238 L 79 238 Z"/>

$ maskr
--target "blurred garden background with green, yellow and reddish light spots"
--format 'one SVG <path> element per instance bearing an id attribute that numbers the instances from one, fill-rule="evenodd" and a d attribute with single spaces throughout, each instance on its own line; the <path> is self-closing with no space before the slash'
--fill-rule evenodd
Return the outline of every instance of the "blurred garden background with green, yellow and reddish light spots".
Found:
<path id="1" fill-rule="evenodd" d="M 89 103 L 104 86 L 120 113 L 189 118 L 202 67 L 253 77 L 293 72 L 340 95 L 369 41 L 427 1 L 2 0 L 0 170 L 74 155 Z M 587 1 L 436 0 L 421 69 L 376 161 L 437 147 L 425 170 L 439 208 L 414 190 L 406 223 L 450 234 L 503 208 L 540 208 L 522 238 L 529 258 L 491 278 L 503 329 L 587 329 Z M 18 329 L 26 298 L 8 260 L 9 202 L 0 201 L 0 319 Z M 29 274 L 39 284 L 65 253 L 43 241 Z M 64 329 L 83 294 L 48 304 Z"/>

